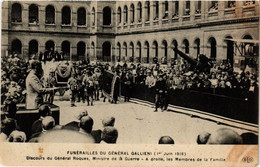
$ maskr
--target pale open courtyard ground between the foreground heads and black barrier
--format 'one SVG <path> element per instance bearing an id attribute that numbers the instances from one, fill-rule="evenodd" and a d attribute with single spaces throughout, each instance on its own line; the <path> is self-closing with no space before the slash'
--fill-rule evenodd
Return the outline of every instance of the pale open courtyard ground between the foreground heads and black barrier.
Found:
<path id="1" fill-rule="evenodd" d="M 55 101 L 54 104 L 60 106 L 61 125 L 76 120 L 75 115 L 84 108 L 94 120 L 93 130 L 102 129 L 103 118 L 114 116 L 115 127 L 119 131 L 117 143 L 120 144 L 155 144 L 164 135 L 171 136 L 176 144 L 196 144 L 199 133 L 213 132 L 218 128 L 227 127 L 180 113 L 153 112 L 154 108 L 131 102 L 110 104 L 95 101 L 94 106 L 76 103 L 77 107 L 70 107 L 69 101 Z M 239 134 L 246 132 L 241 129 L 232 129 Z"/>

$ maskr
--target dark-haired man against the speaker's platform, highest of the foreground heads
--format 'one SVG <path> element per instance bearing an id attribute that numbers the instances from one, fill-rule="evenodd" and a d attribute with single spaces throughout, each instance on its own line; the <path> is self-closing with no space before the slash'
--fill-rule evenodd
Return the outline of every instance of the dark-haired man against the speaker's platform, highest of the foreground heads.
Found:
<path id="1" fill-rule="evenodd" d="M 39 107 L 40 118 L 33 122 L 32 133 L 35 134 L 42 131 L 42 120 L 46 116 L 51 116 L 51 108 L 47 104 L 43 104 Z"/>

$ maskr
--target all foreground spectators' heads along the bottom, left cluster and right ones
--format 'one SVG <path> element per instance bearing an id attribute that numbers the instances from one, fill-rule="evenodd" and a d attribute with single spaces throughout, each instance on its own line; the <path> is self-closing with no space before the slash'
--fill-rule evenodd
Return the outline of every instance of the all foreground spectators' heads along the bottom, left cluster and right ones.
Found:
<path id="1" fill-rule="evenodd" d="M 19 130 L 17 121 L 4 118 L 1 121 L 1 142 L 84 142 L 115 144 L 118 130 L 114 127 L 115 118 L 106 117 L 102 120 L 103 129 L 93 130 L 94 120 L 86 110 L 78 112 L 75 121 L 66 125 L 57 125 L 47 104 L 39 108 L 39 118 L 31 126 L 31 135 Z M 62 137 L 60 136 L 62 134 Z M 213 133 L 202 132 L 197 136 L 197 144 L 257 144 L 258 136 L 254 133 L 239 135 L 232 129 L 220 128 Z M 158 144 L 175 144 L 170 136 L 159 138 Z"/>

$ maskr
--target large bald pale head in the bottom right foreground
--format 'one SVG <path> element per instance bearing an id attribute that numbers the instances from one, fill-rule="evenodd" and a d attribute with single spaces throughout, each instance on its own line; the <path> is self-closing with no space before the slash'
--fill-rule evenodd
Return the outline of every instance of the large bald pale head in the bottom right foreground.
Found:
<path id="1" fill-rule="evenodd" d="M 207 144 L 242 144 L 242 137 L 228 128 L 220 128 L 212 133 Z"/>

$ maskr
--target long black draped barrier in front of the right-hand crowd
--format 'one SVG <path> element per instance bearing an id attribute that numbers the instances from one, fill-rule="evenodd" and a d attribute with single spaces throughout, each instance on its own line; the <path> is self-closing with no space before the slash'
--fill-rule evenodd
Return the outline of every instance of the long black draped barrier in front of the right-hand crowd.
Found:
<path id="1" fill-rule="evenodd" d="M 124 85 L 122 85 L 122 89 Z M 211 92 L 212 90 L 209 90 Z M 214 90 L 215 91 L 215 90 Z M 226 92 L 227 93 L 227 92 Z M 122 91 L 124 95 L 124 91 Z M 145 85 L 132 86 L 131 97 L 154 102 L 154 89 Z M 227 118 L 258 124 L 258 94 L 245 97 L 229 97 L 189 89 L 168 90 L 168 103 L 196 109 Z"/>

